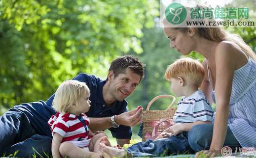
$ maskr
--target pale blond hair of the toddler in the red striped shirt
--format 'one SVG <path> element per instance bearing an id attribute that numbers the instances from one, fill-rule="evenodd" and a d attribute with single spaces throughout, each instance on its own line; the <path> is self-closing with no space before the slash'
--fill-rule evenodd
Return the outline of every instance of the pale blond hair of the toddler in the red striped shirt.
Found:
<path id="1" fill-rule="evenodd" d="M 77 101 L 87 93 L 90 93 L 90 90 L 86 83 L 78 80 L 66 80 L 58 87 L 52 106 L 56 111 L 70 112 Z"/>

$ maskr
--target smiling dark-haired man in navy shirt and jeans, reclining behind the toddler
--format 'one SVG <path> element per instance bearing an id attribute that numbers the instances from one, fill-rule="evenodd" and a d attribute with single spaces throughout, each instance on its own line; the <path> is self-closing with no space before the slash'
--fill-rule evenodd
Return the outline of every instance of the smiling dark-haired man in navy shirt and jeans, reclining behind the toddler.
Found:
<path id="1" fill-rule="evenodd" d="M 142 121 L 141 106 L 128 111 L 128 97 L 144 78 L 144 65 L 127 55 L 111 62 L 108 77 L 79 74 L 75 80 L 85 82 L 90 89 L 92 131 L 109 129 L 119 145 L 129 143 L 130 126 Z M 54 94 L 46 101 L 16 105 L 0 116 L 0 156 L 19 151 L 17 157 L 51 153 L 52 135 L 47 121 L 56 111 L 52 108 Z"/>

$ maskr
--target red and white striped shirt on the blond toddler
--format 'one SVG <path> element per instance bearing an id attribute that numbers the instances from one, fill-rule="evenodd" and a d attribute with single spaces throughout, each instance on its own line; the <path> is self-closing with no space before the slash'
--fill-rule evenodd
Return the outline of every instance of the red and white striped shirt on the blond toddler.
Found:
<path id="1" fill-rule="evenodd" d="M 81 120 L 79 120 L 81 118 Z M 48 125 L 51 127 L 52 135 L 57 132 L 65 141 L 75 141 L 78 142 L 79 147 L 88 146 L 90 143 L 91 136 L 89 133 L 89 118 L 85 114 L 81 114 L 79 117 L 70 113 L 60 113 L 57 112 L 52 115 L 48 121 Z M 85 126 L 84 126 L 85 125 Z M 74 143 L 77 144 L 77 143 Z"/>

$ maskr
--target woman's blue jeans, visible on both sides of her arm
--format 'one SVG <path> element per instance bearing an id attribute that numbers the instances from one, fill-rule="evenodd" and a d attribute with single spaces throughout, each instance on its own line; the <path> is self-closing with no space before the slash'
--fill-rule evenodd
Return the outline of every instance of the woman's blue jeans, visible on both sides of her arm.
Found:
<path id="1" fill-rule="evenodd" d="M 210 149 L 213 136 L 213 126 L 213 124 L 201 124 L 195 125 L 190 129 L 188 133 L 188 142 L 195 152 Z M 229 146 L 232 151 L 235 151 L 236 147 L 241 147 L 229 127 L 227 127 L 226 138 L 223 146 Z"/>

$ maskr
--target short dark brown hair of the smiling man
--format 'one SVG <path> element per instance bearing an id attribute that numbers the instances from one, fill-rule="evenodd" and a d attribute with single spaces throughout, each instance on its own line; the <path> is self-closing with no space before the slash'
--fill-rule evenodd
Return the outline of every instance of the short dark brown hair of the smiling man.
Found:
<path id="1" fill-rule="evenodd" d="M 143 64 L 137 57 L 133 55 L 125 55 L 114 59 L 110 64 L 109 72 L 113 71 L 114 77 L 117 77 L 121 73 L 124 74 L 127 68 L 140 75 L 140 81 L 144 78 L 145 64 Z"/>

